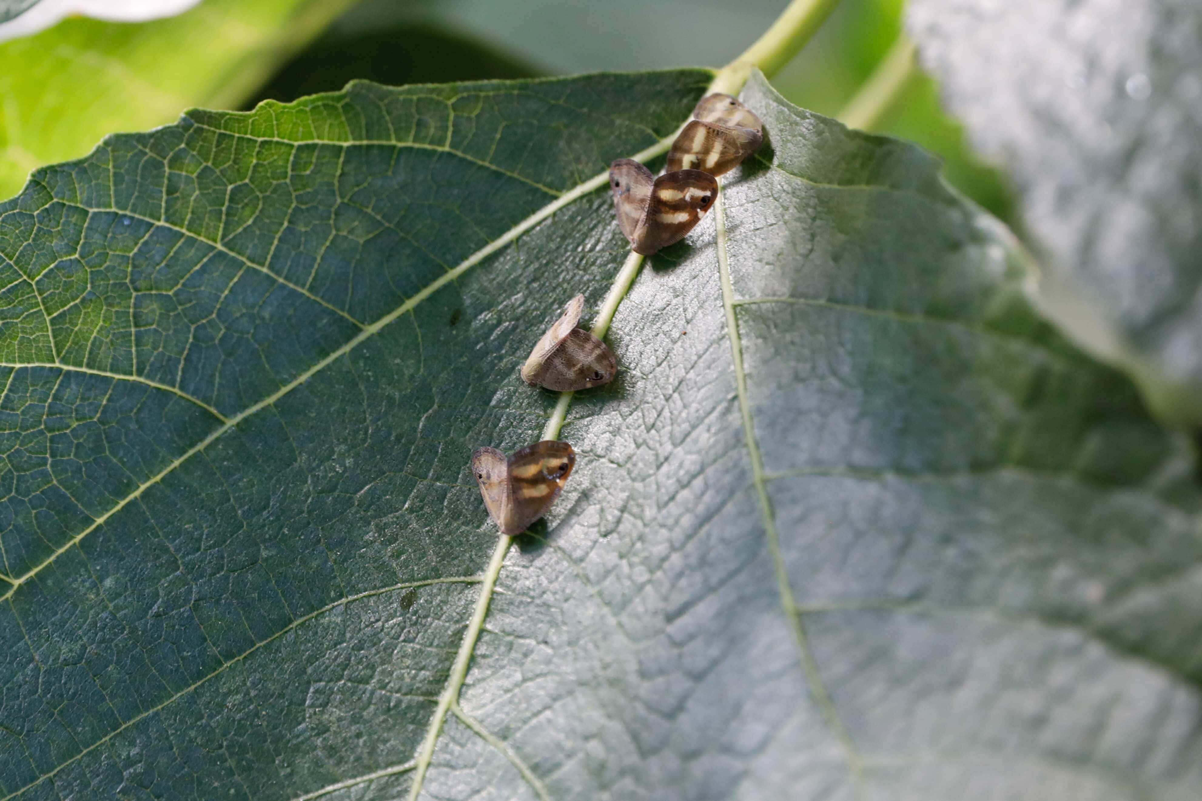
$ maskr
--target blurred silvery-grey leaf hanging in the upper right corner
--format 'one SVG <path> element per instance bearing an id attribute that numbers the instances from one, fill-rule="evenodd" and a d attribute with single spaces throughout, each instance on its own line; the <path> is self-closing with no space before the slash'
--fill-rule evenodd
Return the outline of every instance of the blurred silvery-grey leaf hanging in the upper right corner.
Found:
<path id="1" fill-rule="evenodd" d="M 918 0 L 910 28 L 1018 187 L 1041 306 L 1161 416 L 1202 424 L 1202 11 Z"/>

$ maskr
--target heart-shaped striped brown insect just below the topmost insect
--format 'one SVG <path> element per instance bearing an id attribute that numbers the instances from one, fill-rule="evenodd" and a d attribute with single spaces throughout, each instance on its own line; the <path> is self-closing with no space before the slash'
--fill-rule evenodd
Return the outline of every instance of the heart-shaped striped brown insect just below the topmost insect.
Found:
<path id="1" fill-rule="evenodd" d="M 718 180 L 700 169 L 659 178 L 631 159 L 609 165 L 618 226 L 636 253 L 649 256 L 685 238 L 718 197 Z"/>

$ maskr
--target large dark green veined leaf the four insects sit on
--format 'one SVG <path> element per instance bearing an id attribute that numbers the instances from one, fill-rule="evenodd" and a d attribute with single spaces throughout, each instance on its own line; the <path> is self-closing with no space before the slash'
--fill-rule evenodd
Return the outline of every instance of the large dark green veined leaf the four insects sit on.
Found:
<path id="1" fill-rule="evenodd" d="M 494 548 L 469 454 L 710 77 L 191 112 L 0 207 L 0 799 L 1197 797 L 1185 443 L 934 159 L 762 78 Z"/>

